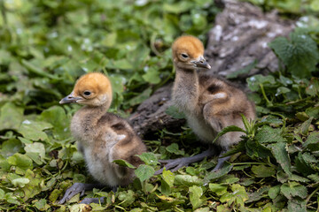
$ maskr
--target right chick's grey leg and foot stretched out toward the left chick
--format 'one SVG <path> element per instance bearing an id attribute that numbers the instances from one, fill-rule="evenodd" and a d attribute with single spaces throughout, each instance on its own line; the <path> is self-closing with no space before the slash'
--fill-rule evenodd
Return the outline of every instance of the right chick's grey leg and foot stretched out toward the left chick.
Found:
<path id="1" fill-rule="evenodd" d="M 181 169 L 184 166 L 188 166 L 190 163 L 200 162 L 200 161 L 204 160 L 204 158 L 211 157 L 214 155 L 215 155 L 214 148 L 210 145 L 206 151 L 204 151 L 198 155 L 194 155 L 191 157 L 170 159 L 170 160 L 159 160 L 159 162 L 166 163 L 166 165 L 164 166 L 166 168 L 166 170 L 171 170 L 172 172 L 174 172 L 176 170 Z M 164 167 L 161 168 L 160 170 L 157 170 L 155 172 L 155 175 L 161 174 L 163 172 Z"/>

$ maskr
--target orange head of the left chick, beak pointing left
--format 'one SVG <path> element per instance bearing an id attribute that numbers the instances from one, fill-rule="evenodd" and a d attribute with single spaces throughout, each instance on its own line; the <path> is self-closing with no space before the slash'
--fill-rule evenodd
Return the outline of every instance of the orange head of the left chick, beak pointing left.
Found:
<path id="1" fill-rule="evenodd" d="M 110 80 L 99 72 L 91 72 L 77 80 L 74 90 L 59 103 L 76 102 L 79 104 L 97 107 L 106 105 L 110 107 L 112 102 L 112 87 Z"/>

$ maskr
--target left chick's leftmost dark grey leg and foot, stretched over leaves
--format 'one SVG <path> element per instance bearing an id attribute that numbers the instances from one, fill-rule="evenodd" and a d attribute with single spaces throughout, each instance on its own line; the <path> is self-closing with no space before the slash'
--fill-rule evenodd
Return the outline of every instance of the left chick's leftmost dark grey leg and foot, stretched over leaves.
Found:
<path id="1" fill-rule="evenodd" d="M 63 204 L 66 201 L 69 201 L 75 194 L 81 193 L 80 196 L 84 195 L 85 191 L 92 190 L 93 188 L 104 188 L 105 186 L 101 184 L 82 184 L 82 183 L 74 183 L 73 186 L 66 189 L 66 193 L 63 198 L 58 201 L 58 204 Z"/>

